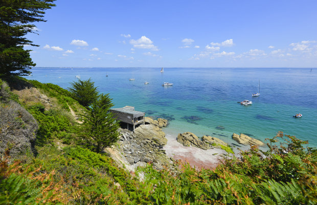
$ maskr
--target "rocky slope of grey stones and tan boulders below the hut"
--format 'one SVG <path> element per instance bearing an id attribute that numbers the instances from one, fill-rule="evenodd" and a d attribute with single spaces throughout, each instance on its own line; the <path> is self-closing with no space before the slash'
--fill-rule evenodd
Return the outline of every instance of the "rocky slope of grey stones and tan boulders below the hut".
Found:
<path id="1" fill-rule="evenodd" d="M 116 153 L 114 149 L 118 150 L 120 154 L 117 153 L 117 157 L 112 158 L 119 165 L 120 163 L 125 165 L 124 167 L 129 171 L 133 171 L 139 166 L 145 166 L 147 163 L 152 163 L 153 168 L 157 170 L 162 170 L 163 167 L 171 171 L 176 170 L 176 163 L 168 158 L 163 150 L 167 139 L 158 124 L 141 125 L 135 128 L 134 133 L 127 129 L 119 129 L 119 132 L 121 134 L 118 141 L 119 146 L 107 150 L 108 153 L 110 151 Z M 114 154 L 112 153 L 112 155 Z"/>

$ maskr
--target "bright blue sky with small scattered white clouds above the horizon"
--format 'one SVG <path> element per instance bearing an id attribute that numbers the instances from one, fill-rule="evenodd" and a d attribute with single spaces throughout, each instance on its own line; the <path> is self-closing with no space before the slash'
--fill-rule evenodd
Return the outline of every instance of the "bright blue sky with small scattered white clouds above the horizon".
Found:
<path id="1" fill-rule="evenodd" d="M 37 67 L 316 67 L 317 1 L 57 0 Z"/>

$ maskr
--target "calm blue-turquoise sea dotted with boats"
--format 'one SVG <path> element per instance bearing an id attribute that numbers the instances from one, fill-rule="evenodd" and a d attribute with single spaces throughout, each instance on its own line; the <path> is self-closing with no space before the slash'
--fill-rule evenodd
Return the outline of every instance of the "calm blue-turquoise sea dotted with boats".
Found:
<path id="1" fill-rule="evenodd" d="M 173 136 L 193 132 L 232 143 L 232 133 L 264 140 L 283 131 L 309 140 L 310 146 L 317 145 L 317 69 L 164 68 L 164 73 L 160 70 L 33 68 L 33 76 L 26 78 L 65 89 L 77 80 L 75 75 L 91 78 L 100 92 L 110 93 L 115 108 L 134 106 L 147 116 L 169 119 L 165 132 Z M 259 79 L 261 95 L 252 97 Z M 144 85 L 145 81 L 149 84 Z M 162 87 L 164 82 L 174 85 Z M 253 105 L 237 103 L 244 99 L 252 100 Z M 299 112 L 302 118 L 292 117 Z"/>

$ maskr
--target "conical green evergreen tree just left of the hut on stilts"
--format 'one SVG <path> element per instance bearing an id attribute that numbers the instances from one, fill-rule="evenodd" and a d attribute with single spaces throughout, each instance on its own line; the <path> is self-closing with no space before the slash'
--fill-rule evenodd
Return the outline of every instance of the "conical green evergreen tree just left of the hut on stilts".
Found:
<path id="1" fill-rule="evenodd" d="M 87 107 L 86 113 L 82 115 L 84 122 L 79 127 L 79 142 L 84 147 L 100 153 L 118 140 L 119 123 L 109 112 L 111 106 L 109 95 L 101 94 L 98 100 Z"/>

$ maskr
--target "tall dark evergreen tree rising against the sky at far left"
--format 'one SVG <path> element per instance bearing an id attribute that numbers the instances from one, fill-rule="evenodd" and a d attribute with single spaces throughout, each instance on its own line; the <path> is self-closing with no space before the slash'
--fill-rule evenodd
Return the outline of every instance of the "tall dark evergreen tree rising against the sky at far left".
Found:
<path id="1" fill-rule="evenodd" d="M 27 75 L 33 63 L 31 50 L 24 45 L 34 45 L 26 34 L 33 32 L 34 22 L 46 22 L 44 10 L 55 6 L 55 0 L 0 0 L 0 76 Z"/>

